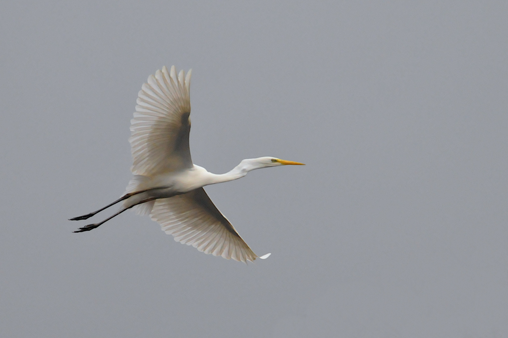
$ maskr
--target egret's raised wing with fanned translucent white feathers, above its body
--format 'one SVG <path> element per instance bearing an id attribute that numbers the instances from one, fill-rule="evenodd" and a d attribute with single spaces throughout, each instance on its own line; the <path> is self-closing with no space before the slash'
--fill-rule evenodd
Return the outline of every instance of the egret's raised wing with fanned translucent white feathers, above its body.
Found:
<path id="1" fill-rule="evenodd" d="M 175 66 L 148 77 L 138 94 L 131 120 L 131 152 L 135 175 L 152 176 L 192 168 L 189 149 L 190 73 L 176 77 Z"/>

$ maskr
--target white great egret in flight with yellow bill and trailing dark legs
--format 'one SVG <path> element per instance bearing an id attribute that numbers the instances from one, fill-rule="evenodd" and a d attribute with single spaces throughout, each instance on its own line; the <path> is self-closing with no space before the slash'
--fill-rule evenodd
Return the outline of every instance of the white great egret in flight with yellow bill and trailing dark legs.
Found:
<path id="1" fill-rule="evenodd" d="M 175 66 L 157 70 L 148 77 L 138 94 L 131 120 L 131 152 L 134 174 L 118 200 L 104 208 L 71 221 L 86 220 L 123 201 L 113 216 L 74 232 L 95 229 L 123 211 L 135 207 L 138 214 L 149 214 L 162 230 L 176 241 L 193 245 L 199 251 L 246 263 L 257 257 L 233 225 L 213 205 L 203 187 L 238 179 L 247 172 L 282 165 L 303 165 L 275 157 L 246 159 L 233 170 L 217 175 L 192 163 L 189 150 L 190 74 L 176 76 Z M 265 259 L 270 254 L 259 258 Z"/>

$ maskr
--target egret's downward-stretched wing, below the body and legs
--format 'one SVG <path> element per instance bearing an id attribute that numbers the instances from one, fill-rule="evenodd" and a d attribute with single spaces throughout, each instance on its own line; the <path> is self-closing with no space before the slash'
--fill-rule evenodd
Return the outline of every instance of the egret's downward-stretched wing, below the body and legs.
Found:
<path id="1" fill-rule="evenodd" d="M 258 257 L 213 205 L 203 188 L 155 200 L 150 217 L 177 242 L 192 245 L 205 254 L 244 263 Z"/>

